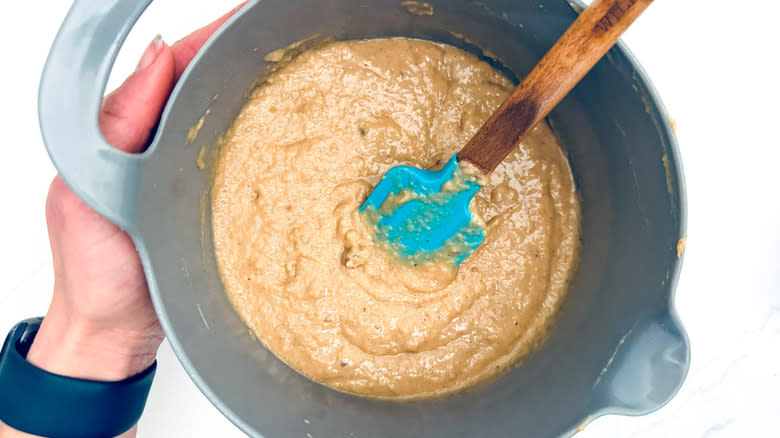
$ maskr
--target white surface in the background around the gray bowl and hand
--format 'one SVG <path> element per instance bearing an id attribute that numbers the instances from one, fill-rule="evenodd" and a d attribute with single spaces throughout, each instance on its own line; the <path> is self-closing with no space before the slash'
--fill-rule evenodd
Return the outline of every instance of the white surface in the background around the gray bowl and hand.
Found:
<path id="1" fill-rule="evenodd" d="M 780 435 L 780 141 L 776 2 L 659 1 L 624 40 L 676 119 L 688 187 L 688 249 L 677 306 L 693 345 L 688 379 L 660 411 L 595 420 L 578 438 Z M 751 6 L 747 6 L 751 4 Z M 185 6 L 186 5 L 186 6 Z M 52 269 L 43 205 L 54 170 L 37 125 L 37 85 L 66 0 L 3 4 L 0 78 L 0 334 L 45 313 Z M 123 48 L 112 85 L 146 44 L 173 42 L 233 0 L 157 0 Z M 240 437 L 167 344 L 141 437 Z"/>

